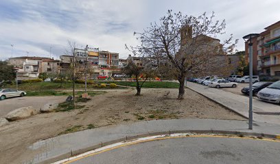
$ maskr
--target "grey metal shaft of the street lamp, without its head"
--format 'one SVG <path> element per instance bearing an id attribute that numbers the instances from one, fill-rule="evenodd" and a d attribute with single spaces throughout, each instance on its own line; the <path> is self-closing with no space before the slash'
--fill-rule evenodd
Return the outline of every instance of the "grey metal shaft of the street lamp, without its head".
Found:
<path id="1" fill-rule="evenodd" d="M 249 72 L 250 72 L 250 98 L 249 98 L 249 129 L 253 129 L 253 49 L 252 42 L 249 43 Z"/>

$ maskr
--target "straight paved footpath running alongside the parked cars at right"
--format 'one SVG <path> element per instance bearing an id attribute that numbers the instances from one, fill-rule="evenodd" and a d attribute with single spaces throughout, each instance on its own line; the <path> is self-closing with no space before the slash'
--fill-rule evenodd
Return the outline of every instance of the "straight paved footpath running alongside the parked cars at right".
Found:
<path id="1" fill-rule="evenodd" d="M 187 87 L 248 118 L 249 98 L 247 96 L 191 82 L 187 82 Z M 253 98 L 253 120 L 255 122 L 280 124 L 280 105 Z"/>

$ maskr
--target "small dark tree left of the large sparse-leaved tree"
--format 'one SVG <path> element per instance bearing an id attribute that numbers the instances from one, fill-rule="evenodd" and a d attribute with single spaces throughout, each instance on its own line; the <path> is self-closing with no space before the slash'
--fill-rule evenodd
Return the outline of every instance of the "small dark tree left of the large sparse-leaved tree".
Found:
<path id="1" fill-rule="evenodd" d="M 156 70 L 145 67 L 145 66 L 147 66 L 147 65 L 143 64 L 143 66 L 136 66 L 136 64 L 133 63 L 133 61 L 128 61 L 128 64 L 126 64 L 126 66 L 124 66 L 124 68 L 121 68 L 122 73 L 126 74 L 130 78 L 132 76 L 135 77 L 136 90 L 137 90 L 137 94 L 135 94 L 136 96 L 140 96 L 141 87 L 143 86 L 143 83 L 145 83 L 145 81 L 147 81 L 148 78 L 154 77 L 156 74 Z M 143 78 L 142 81 L 140 81 L 140 77 Z"/>

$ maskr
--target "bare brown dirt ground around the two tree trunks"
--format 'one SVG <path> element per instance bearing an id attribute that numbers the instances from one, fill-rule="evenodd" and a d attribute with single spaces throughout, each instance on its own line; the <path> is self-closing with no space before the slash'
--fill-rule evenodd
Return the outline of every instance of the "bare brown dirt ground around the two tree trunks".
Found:
<path id="1" fill-rule="evenodd" d="M 177 100 L 178 89 L 142 89 L 143 96 L 134 96 L 135 90 L 108 90 L 94 96 L 83 109 L 42 113 L 25 120 L 17 120 L 0 127 L 1 163 L 21 163 L 32 156 L 27 146 L 58 134 L 80 131 L 141 120 L 176 118 L 211 118 L 244 120 L 215 102 L 191 90 L 185 90 L 185 99 Z"/>

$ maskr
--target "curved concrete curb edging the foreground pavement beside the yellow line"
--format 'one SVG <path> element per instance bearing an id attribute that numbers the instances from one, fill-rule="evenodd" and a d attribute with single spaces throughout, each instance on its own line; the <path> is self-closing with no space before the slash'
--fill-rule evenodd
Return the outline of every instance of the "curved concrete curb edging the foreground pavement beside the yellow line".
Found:
<path id="1" fill-rule="evenodd" d="M 54 156 L 54 158 L 47 159 L 45 161 L 41 161 L 42 164 L 54 163 L 56 161 L 60 161 L 62 159 L 70 158 L 71 156 L 76 156 L 78 154 L 82 154 L 84 152 L 88 152 L 90 150 L 95 150 L 97 148 L 102 148 L 103 146 L 108 146 L 113 143 L 118 143 L 121 141 L 130 141 L 133 139 L 138 139 L 141 137 L 152 137 L 155 135 L 170 135 L 175 133 L 196 133 L 196 134 L 213 134 L 213 135 L 239 135 L 240 137 L 257 137 L 261 138 L 269 138 L 269 139 L 280 139 L 280 135 L 270 135 L 266 133 L 249 133 L 249 132 L 240 132 L 240 131 L 216 131 L 216 130 L 185 130 L 185 131 L 163 131 L 163 132 L 153 132 L 153 133 L 145 133 L 141 135 L 135 136 L 126 136 L 119 139 L 114 139 L 111 141 L 101 142 L 93 146 L 89 146 L 86 148 L 82 148 L 79 150 L 71 150 L 70 152 L 65 152 L 65 154 L 61 154 L 59 156 Z"/>

